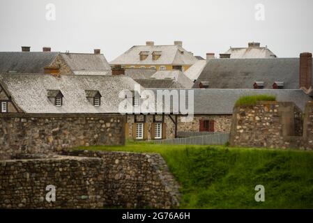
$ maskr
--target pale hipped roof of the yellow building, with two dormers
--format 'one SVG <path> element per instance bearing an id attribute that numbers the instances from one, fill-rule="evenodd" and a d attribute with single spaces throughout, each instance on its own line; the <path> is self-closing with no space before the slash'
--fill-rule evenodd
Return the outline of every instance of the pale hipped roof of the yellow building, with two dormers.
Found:
<path id="1" fill-rule="evenodd" d="M 152 59 L 153 52 L 162 52 L 162 55 L 158 60 Z M 148 52 L 148 57 L 140 61 L 140 52 Z M 178 45 L 139 45 L 133 46 L 121 56 L 117 57 L 114 61 L 111 61 L 112 65 L 123 65 L 123 64 L 171 64 L 171 65 L 191 65 L 197 62 L 192 53 L 183 49 Z"/>

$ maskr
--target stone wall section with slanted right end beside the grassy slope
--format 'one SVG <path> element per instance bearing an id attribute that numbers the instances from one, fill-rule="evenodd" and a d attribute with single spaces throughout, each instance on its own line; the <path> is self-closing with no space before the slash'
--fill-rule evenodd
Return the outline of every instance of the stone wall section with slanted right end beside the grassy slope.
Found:
<path id="1" fill-rule="evenodd" d="M 105 206 L 177 208 L 179 185 L 159 154 L 62 151 L 63 155 L 101 157 L 105 162 Z"/>

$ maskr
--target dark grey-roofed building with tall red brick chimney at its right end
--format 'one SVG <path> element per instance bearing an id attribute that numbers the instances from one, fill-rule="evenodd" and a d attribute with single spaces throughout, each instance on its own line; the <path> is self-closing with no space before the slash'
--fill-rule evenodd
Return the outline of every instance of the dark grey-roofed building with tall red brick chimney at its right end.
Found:
<path id="1" fill-rule="evenodd" d="M 300 58 L 211 59 L 193 88 L 310 89 L 312 54 Z"/>

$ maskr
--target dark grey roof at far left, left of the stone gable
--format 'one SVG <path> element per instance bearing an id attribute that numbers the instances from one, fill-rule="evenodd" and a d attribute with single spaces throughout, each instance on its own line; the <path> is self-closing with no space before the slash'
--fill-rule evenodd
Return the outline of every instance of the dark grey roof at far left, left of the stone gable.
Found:
<path id="1" fill-rule="evenodd" d="M 43 73 L 59 52 L 0 52 L 0 72 Z"/>

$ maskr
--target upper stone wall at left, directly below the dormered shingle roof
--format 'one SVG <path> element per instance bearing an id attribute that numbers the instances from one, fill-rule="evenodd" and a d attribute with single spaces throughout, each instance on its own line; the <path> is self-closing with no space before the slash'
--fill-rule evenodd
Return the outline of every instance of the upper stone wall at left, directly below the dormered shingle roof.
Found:
<path id="1" fill-rule="evenodd" d="M 110 114 L 0 114 L 0 159 L 16 153 L 125 144 L 125 116 Z"/>

